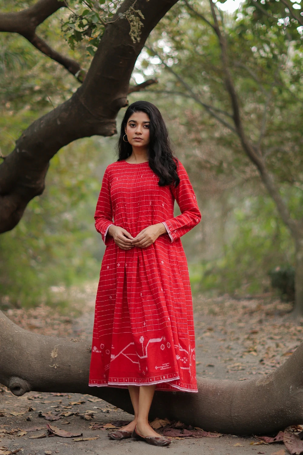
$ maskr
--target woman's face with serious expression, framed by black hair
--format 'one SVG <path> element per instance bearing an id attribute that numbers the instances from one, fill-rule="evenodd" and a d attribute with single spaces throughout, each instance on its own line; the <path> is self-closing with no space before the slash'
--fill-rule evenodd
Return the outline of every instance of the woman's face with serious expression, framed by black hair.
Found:
<path id="1" fill-rule="evenodd" d="M 125 134 L 132 147 L 148 148 L 149 116 L 145 112 L 134 112 L 128 119 Z"/>

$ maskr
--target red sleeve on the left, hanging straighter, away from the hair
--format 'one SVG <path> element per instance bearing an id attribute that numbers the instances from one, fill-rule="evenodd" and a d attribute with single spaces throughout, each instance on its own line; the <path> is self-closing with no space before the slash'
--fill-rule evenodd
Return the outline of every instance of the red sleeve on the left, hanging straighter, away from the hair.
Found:
<path id="1" fill-rule="evenodd" d="M 102 240 L 105 245 L 108 244 L 109 238 L 106 238 L 106 234 L 109 230 L 109 226 L 113 223 L 113 212 L 112 204 L 110 200 L 110 182 L 109 172 L 106 169 L 102 180 L 101 191 L 98 197 L 96 212 L 94 214 L 95 227 L 97 231 L 102 235 Z"/>

